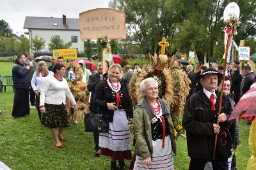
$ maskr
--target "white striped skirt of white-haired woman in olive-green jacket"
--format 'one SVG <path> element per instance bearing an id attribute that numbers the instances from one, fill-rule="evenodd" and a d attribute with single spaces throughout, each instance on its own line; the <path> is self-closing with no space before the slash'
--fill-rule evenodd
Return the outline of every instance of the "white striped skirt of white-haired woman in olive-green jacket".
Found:
<path id="1" fill-rule="evenodd" d="M 143 158 L 136 156 L 134 170 L 152 170 L 152 169 L 161 169 L 161 170 L 174 170 L 173 164 L 173 153 L 170 136 L 166 136 L 164 141 L 164 148 L 162 148 L 163 139 L 157 139 L 152 141 L 153 145 L 153 154 L 152 154 L 152 163 L 150 166 L 147 166 L 143 162 Z"/>

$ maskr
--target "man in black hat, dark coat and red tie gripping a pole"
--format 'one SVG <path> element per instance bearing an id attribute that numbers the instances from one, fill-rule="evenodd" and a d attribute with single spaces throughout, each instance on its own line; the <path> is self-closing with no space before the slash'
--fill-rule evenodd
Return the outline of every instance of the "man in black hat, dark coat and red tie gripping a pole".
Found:
<path id="1" fill-rule="evenodd" d="M 218 116 L 220 92 L 216 90 L 218 78 L 222 75 L 216 69 L 205 69 L 196 76 L 204 89 L 191 96 L 186 103 L 182 125 L 187 131 L 188 155 L 191 158 L 189 170 L 203 170 L 207 162 L 212 162 L 214 170 L 228 170 L 232 141 L 227 128 L 231 124 L 228 121 L 231 113 L 227 113 L 227 104 L 222 102 Z M 218 139 L 213 160 L 215 134 L 218 134 Z"/>

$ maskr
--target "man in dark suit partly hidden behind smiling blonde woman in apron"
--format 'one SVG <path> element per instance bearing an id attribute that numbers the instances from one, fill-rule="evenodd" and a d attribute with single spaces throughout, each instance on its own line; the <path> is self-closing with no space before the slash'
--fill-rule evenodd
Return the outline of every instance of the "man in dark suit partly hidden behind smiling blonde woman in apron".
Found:
<path id="1" fill-rule="evenodd" d="M 109 68 L 109 62 L 106 61 L 106 72 L 108 72 L 108 68 Z M 95 102 L 94 102 L 95 87 L 100 81 L 103 81 L 105 78 L 106 78 L 106 74 L 103 74 L 102 62 L 99 62 L 98 73 L 92 74 L 89 76 L 89 81 L 87 85 L 87 89 L 89 90 L 89 92 L 92 92 L 90 97 L 90 106 L 89 106 L 89 110 L 91 111 L 91 113 L 96 114 L 98 111 L 98 107 L 95 106 Z M 93 138 L 94 138 L 95 150 L 96 150 L 95 156 L 99 157 L 100 155 L 99 133 L 93 132 Z"/>

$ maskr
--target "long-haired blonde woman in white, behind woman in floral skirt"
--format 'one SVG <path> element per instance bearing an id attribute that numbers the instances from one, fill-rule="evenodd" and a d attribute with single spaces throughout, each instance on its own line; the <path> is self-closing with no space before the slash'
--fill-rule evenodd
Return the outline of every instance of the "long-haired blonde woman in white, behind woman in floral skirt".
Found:
<path id="1" fill-rule="evenodd" d="M 42 113 L 40 112 L 40 108 L 39 108 L 40 92 L 41 92 L 42 85 L 44 83 L 45 78 L 52 75 L 53 75 L 52 71 L 49 71 L 47 69 L 46 62 L 44 61 L 38 62 L 38 67 L 36 69 L 36 72 L 33 74 L 33 77 L 31 80 L 31 87 L 33 88 L 36 94 L 36 109 L 37 109 L 40 121 L 42 120 Z"/>

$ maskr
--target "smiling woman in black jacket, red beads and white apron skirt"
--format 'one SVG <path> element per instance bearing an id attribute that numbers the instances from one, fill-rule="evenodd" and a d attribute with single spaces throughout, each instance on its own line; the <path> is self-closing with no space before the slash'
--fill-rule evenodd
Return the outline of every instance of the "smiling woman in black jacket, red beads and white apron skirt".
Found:
<path id="1" fill-rule="evenodd" d="M 121 67 L 109 67 L 108 79 L 100 81 L 95 88 L 95 105 L 98 113 L 108 115 L 109 132 L 100 133 L 100 154 L 111 157 L 111 169 L 125 169 L 124 159 L 131 159 L 131 137 L 128 119 L 133 117 L 132 103 L 127 80 L 122 79 Z"/>

